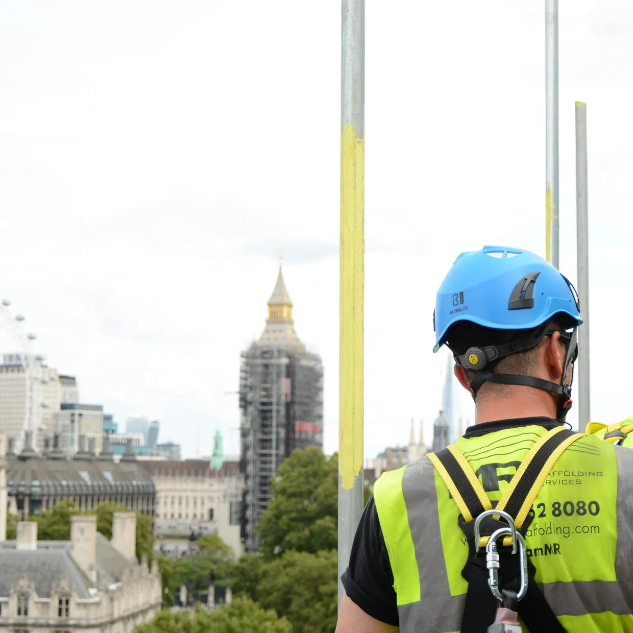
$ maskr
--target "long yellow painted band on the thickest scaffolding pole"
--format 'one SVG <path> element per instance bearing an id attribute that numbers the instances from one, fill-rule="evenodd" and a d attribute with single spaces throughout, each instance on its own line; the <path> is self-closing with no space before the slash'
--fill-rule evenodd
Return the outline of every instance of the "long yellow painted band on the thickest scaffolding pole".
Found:
<path id="1" fill-rule="evenodd" d="M 349 490 L 363 470 L 363 316 L 365 311 L 365 142 L 341 130 L 341 296 L 339 475 Z"/>

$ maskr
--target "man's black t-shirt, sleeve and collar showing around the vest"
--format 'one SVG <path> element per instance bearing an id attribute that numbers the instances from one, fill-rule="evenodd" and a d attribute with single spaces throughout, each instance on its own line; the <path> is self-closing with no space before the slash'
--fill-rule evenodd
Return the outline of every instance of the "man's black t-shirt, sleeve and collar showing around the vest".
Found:
<path id="1" fill-rule="evenodd" d="M 464 437 L 477 437 L 513 427 L 539 425 L 546 429 L 560 426 L 551 418 L 516 418 L 484 422 L 468 427 Z M 394 576 L 382 536 L 373 496 L 361 516 L 349 555 L 349 566 L 341 577 L 351 601 L 372 618 L 398 626 L 398 603 Z"/>

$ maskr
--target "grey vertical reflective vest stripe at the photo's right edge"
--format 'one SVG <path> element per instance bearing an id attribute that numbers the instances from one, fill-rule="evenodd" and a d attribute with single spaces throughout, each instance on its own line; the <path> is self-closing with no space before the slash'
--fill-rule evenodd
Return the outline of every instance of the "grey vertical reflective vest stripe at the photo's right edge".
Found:
<path id="1" fill-rule="evenodd" d="M 633 448 L 614 446 L 618 465 L 618 546 L 615 576 L 633 580 Z M 629 606 L 631 603 L 629 602 Z"/>

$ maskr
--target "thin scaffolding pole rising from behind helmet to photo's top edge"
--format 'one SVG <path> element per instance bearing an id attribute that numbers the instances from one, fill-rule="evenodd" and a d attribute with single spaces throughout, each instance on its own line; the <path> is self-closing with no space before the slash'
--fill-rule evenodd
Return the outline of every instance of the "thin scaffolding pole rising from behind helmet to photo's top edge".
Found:
<path id="1" fill-rule="evenodd" d="M 545 0 L 545 252 L 558 268 L 558 0 Z"/>

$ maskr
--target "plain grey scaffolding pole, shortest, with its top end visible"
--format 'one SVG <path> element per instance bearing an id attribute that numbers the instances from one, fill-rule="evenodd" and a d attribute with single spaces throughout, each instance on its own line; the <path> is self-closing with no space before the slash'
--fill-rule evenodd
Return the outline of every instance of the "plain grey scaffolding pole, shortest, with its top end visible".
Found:
<path id="1" fill-rule="evenodd" d="M 576 259 L 580 316 L 584 323 L 578 330 L 579 428 L 591 420 L 589 368 L 589 212 L 587 206 L 587 105 L 576 101 Z"/>

